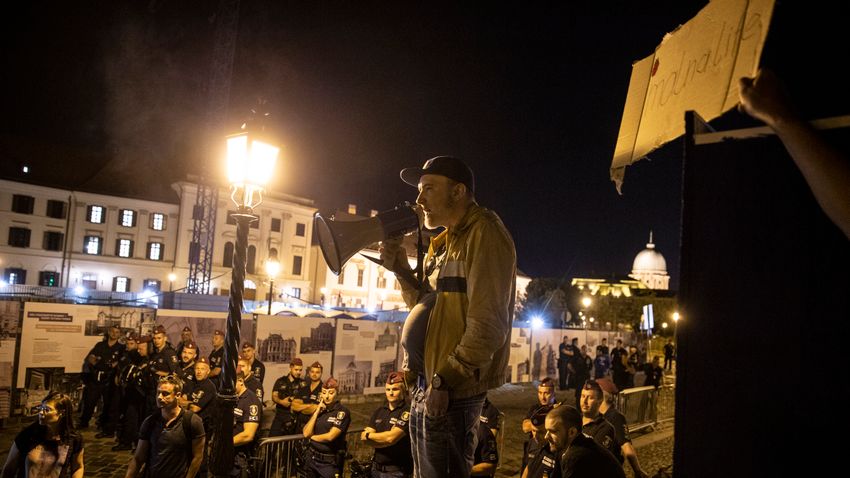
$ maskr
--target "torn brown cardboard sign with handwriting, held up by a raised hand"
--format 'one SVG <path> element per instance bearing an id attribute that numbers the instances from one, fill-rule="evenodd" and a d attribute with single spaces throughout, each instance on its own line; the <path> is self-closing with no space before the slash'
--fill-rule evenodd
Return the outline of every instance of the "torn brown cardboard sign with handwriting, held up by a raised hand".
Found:
<path id="1" fill-rule="evenodd" d="M 685 132 L 685 112 L 711 121 L 738 103 L 738 79 L 754 76 L 774 0 L 714 0 L 632 66 L 611 163 L 620 191 L 626 166 Z"/>

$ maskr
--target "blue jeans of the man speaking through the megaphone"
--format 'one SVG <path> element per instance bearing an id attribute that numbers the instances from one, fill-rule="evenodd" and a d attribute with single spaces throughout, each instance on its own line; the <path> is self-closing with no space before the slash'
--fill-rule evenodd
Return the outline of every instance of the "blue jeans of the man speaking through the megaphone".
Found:
<path id="1" fill-rule="evenodd" d="M 478 419 L 486 393 L 451 400 L 446 414 L 425 414 L 425 390 L 413 390 L 410 405 L 410 447 L 414 478 L 466 478 L 478 441 Z"/>

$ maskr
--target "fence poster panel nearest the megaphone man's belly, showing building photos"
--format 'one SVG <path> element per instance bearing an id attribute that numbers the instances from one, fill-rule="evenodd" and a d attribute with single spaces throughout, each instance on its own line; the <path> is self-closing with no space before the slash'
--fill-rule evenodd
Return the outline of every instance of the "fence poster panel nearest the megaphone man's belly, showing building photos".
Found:
<path id="1" fill-rule="evenodd" d="M 340 393 L 383 393 L 387 377 L 399 366 L 398 342 L 399 324 L 340 319 L 333 373 Z"/>

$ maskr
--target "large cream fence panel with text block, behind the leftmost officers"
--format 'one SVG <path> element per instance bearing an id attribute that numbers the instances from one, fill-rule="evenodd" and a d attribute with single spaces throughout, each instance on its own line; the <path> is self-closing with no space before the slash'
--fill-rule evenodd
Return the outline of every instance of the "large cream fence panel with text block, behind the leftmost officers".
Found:
<path id="1" fill-rule="evenodd" d="M 79 373 L 83 360 L 117 324 L 121 335 L 153 324 L 153 309 L 27 302 L 21 325 L 18 388 L 49 390 L 57 373 Z"/>

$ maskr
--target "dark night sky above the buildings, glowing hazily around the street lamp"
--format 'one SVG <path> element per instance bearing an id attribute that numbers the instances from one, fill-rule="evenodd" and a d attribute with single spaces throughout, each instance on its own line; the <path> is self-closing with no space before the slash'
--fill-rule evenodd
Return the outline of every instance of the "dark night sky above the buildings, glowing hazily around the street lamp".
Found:
<path id="1" fill-rule="evenodd" d="M 2 20 L 0 173 L 27 164 L 28 181 L 167 199 L 187 174 L 221 180 L 214 148 L 262 97 L 283 148 L 274 191 L 322 213 L 385 210 L 415 198 L 401 168 L 455 155 L 526 274 L 628 273 L 653 230 L 675 287 L 681 143 L 628 168 L 622 196 L 608 169 L 631 63 L 706 2 L 455 3 L 243 0 L 218 122 L 218 2 L 19 6 Z M 766 54 L 782 56 L 776 38 Z"/>

